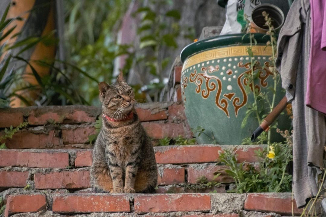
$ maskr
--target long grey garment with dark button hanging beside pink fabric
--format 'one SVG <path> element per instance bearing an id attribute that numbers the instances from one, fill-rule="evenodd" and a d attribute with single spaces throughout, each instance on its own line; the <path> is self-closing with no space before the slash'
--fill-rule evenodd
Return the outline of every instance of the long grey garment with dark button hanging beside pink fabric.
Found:
<path id="1" fill-rule="evenodd" d="M 278 68 L 293 109 L 293 192 L 302 208 L 318 192 L 326 143 L 325 116 L 304 103 L 310 53 L 310 3 L 296 0 L 279 35 Z"/>

